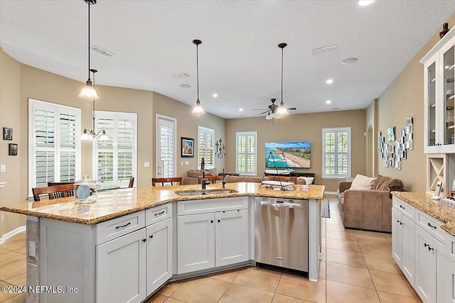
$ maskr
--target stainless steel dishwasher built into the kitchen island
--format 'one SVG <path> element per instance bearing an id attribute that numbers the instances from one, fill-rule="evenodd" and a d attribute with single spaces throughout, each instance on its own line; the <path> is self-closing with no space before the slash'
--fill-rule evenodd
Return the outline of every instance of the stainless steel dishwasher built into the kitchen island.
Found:
<path id="1" fill-rule="evenodd" d="M 255 198 L 255 261 L 308 272 L 308 201 Z"/>

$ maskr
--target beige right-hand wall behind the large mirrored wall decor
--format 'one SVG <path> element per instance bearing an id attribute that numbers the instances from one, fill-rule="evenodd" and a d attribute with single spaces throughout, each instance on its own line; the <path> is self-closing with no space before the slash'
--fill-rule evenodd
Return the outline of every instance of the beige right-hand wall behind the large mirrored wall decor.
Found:
<path id="1" fill-rule="evenodd" d="M 455 23 L 455 13 L 447 21 Z M 427 156 L 424 154 L 424 66 L 419 60 L 439 41 L 439 31 L 424 45 L 410 63 L 381 94 L 378 101 L 378 131 L 387 135 L 387 128 L 405 126 L 406 117 L 414 119 L 414 149 L 408 150 L 401 170 L 384 167 L 378 159 L 378 173 L 398 178 L 410 192 L 425 192 Z M 378 156 L 378 152 L 375 153 Z"/>

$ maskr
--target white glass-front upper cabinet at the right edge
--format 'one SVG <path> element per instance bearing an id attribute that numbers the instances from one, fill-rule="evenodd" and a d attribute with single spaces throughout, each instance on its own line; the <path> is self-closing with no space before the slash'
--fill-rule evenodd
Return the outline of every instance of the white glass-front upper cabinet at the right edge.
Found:
<path id="1" fill-rule="evenodd" d="M 425 55 L 424 152 L 455 153 L 455 30 Z"/>

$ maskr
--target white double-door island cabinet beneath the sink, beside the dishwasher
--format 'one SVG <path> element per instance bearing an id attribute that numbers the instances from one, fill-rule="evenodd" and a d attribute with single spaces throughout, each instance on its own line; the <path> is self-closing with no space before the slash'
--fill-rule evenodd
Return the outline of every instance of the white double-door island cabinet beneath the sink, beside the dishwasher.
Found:
<path id="1" fill-rule="evenodd" d="M 178 274 L 249 260 L 247 205 L 245 197 L 179 202 Z"/>

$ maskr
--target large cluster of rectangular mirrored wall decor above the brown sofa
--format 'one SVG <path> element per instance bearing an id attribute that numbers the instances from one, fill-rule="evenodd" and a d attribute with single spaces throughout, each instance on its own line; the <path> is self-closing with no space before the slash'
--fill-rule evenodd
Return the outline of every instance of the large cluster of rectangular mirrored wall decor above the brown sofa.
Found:
<path id="1" fill-rule="evenodd" d="M 401 129 L 398 140 L 395 140 L 397 137 L 395 136 L 395 126 L 387 128 L 389 144 L 385 142 L 385 138 L 378 131 L 378 153 L 382 160 L 382 165 L 401 170 L 401 162 L 407 158 L 407 150 L 412 150 L 413 148 L 413 131 L 412 117 L 406 118 L 406 126 Z"/>

